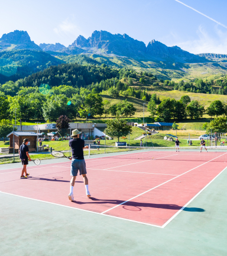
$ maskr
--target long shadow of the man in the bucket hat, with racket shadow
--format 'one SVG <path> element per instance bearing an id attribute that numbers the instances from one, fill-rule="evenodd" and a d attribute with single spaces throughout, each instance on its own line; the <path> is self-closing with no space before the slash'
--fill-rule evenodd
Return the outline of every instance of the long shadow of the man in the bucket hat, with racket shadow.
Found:
<path id="1" fill-rule="evenodd" d="M 82 202 L 82 201 L 74 200 L 73 203 L 76 203 L 76 204 L 105 204 L 105 203 L 108 203 L 108 204 L 115 204 L 115 205 L 124 203 L 124 201 L 122 201 L 122 200 L 109 200 L 109 199 L 102 200 L 102 199 L 96 199 L 95 197 L 89 197 L 89 199 L 92 201 Z M 129 208 L 127 208 L 127 206 Z M 177 204 L 155 204 L 155 203 L 139 203 L 139 202 L 135 202 L 135 201 L 128 201 L 127 203 L 122 204 L 122 207 L 125 210 L 140 211 L 140 210 L 142 210 L 140 207 L 180 210 L 183 206 L 179 206 Z M 183 210 L 186 212 L 205 212 L 204 209 L 197 208 L 197 207 L 185 207 Z"/>

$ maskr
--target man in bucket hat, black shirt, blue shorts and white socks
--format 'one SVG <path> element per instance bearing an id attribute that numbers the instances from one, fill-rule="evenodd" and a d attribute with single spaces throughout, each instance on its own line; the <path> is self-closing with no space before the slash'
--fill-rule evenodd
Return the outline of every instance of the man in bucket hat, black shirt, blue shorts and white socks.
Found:
<path id="1" fill-rule="evenodd" d="M 86 164 L 85 164 L 85 158 L 83 158 L 83 149 L 88 148 L 88 146 L 85 146 L 85 140 L 80 139 L 80 133 L 79 130 L 75 129 L 72 132 L 73 139 L 69 140 L 69 146 L 72 149 L 72 157 L 69 158 L 72 160 L 71 163 L 71 173 L 72 179 L 70 181 L 70 193 L 69 193 L 69 200 L 73 201 L 73 187 L 76 181 L 76 176 L 78 173 L 78 170 L 80 171 L 80 175 L 83 176 L 83 182 L 85 183 L 85 189 L 86 189 L 86 195 L 87 197 L 90 197 L 90 192 L 88 190 L 88 180 L 86 177 Z"/>

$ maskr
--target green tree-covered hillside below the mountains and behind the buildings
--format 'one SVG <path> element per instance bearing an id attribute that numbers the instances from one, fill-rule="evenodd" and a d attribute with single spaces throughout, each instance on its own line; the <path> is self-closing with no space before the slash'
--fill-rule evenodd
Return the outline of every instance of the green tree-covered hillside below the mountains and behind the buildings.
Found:
<path id="1" fill-rule="evenodd" d="M 226 94 L 226 91 L 226 76 L 215 81 L 197 79 L 191 83 L 174 82 L 158 79 L 150 72 L 135 72 L 134 69 L 69 63 L 50 66 L 16 82 L 1 84 L 0 116 L 3 120 L 12 120 L 17 108 L 17 117 L 21 120 L 56 121 L 62 114 L 70 119 L 103 115 L 115 117 L 117 112 L 131 117 L 136 111 L 141 112 L 142 103 L 140 107 L 138 105 L 138 110 L 134 105 L 136 101 L 132 100 L 136 98 L 148 106 L 146 108 L 152 117 L 156 116 L 153 120 L 193 119 L 205 113 L 213 116 L 217 106 L 223 113 L 227 109 L 225 103 L 218 101 L 211 110 L 206 110 L 204 103 L 202 105 L 200 101 L 193 100 L 193 95 L 220 95 Z M 165 92 L 166 96 L 163 97 L 161 92 Z M 175 100 L 176 97 L 170 99 L 169 92 L 176 92 L 176 95 L 190 93 L 192 102 L 190 98 L 186 104 L 181 99 Z M 120 97 L 121 101 L 114 100 Z M 210 103 L 213 104 L 212 101 Z"/>

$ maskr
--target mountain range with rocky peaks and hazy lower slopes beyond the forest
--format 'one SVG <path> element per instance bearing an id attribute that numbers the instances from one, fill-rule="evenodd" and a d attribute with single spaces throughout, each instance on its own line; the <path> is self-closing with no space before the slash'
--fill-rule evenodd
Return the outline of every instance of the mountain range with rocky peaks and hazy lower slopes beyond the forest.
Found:
<path id="1" fill-rule="evenodd" d="M 202 53 L 194 55 L 178 46 L 168 47 L 151 40 L 132 39 L 127 34 L 94 31 L 85 39 L 77 37 L 68 47 L 60 43 L 31 41 L 27 31 L 15 30 L 0 38 L 0 84 L 17 81 L 51 65 L 109 65 L 152 72 L 160 79 L 216 79 L 227 74 L 227 55 Z"/>

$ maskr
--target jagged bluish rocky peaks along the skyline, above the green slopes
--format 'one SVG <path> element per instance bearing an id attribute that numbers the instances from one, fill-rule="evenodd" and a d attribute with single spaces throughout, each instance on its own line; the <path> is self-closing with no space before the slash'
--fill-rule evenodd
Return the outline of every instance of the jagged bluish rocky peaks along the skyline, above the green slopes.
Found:
<path id="1" fill-rule="evenodd" d="M 158 60 L 177 63 L 205 63 L 210 58 L 210 53 L 194 55 L 180 49 L 178 46 L 168 47 L 159 41 L 151 40 L 146 46 L 144 42 L 132 39 L 127 34 L 111 34 L 107 31 L 94 31 L 92 36 L 85 39 L 83 36 L 68 47 L 63 44 L 46 44 L 39 46 L 31 41 L 27 31 L 15 30 L 4 34 L 0 39 L 0 51 L 29 49 L 44 52 L 65 53 L 66 55 L 98 54 L 107 56 L 131 57 L 133 59 Z M 215 58 L 223 55 L 215 55 Z"/>

